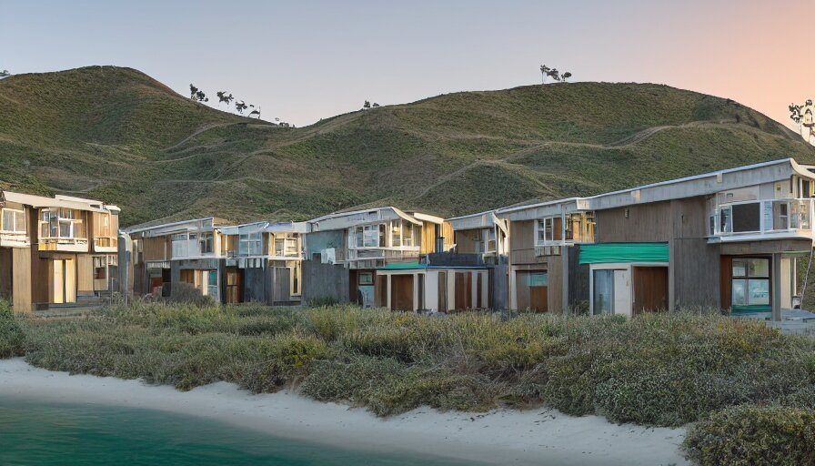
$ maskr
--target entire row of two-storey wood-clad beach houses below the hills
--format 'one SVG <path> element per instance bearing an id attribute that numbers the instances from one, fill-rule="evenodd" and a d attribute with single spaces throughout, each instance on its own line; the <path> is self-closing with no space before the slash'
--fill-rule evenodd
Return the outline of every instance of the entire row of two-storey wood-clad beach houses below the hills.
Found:
<path id="1" fill-rule="evenodd" d="M 800 259 L 811 257 L 813 194 L 815 167 L 783 159 L 457 218 L 383 207 L 304 222 L 146 224 L 121 232 L 116 258 L 117 208 L 6 193 L 4 206 L 22 212 L 26 229 L 9 231 L 4 207 L 0 265 L 44 262 L 19 273 L 15 262 L 0 292 L 26 309 L 121 290 L 429 311 L 631 316 L 701 306 L 780 319 L 800 295 Z M 78 236 L 67 228 L 74 239 L 61 239 L 62 222 Z M 16 278 L 35 273 L 47 276 L 47 292 Z"/>

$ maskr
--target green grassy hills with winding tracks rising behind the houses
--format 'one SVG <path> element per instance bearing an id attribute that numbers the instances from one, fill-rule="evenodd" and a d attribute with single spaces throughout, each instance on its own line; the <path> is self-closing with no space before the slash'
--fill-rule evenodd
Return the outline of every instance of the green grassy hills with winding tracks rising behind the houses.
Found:
<path id="1" fill-rule="evenodd" d="M 462 92 L 282 128 L 113 66 L 0 80 L 0 155 L 0 187 L 104 199 L 124 224 L 383 204 L 451 216 L 782 157 L 815 163 L 815 148 L 759 112 L 669 86 Z"/>

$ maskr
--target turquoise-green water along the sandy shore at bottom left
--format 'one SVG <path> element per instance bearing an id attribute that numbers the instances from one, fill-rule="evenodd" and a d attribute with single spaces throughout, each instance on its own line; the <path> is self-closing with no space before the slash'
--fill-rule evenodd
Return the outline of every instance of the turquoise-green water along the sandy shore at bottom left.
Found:
<path id="1" fill-rule="evenodd" d="M 155 410 L 0 398 L 0 465 L 77 464 L 471 463 L 406 453 L 343 450 Z"/>

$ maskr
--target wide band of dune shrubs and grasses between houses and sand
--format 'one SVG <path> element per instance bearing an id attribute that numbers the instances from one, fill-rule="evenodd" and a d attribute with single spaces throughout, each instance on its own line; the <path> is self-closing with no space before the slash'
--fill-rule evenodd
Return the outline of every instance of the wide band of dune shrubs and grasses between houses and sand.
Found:
<path id="1" fill-rule="evenodd" d="M 810 441 L 815 340 L 714 314 L 428 317 L 347 305 L 137 302 L 73 319 L 6 312 L 0 355 L 15 354 L 49 370 L 179 390 L 217 380 L 257 393 L 296 390 L 379 416 L 425 405 L 547 406 L 642 425 L 698 422 L 685 448 L 701 464 L 811 460 L 810 450 L 765 450 Z"/>

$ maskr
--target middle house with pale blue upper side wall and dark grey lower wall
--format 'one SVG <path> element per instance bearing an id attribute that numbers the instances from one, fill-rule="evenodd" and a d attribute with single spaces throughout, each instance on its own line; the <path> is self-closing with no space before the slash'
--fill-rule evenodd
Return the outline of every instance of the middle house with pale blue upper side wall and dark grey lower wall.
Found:
<path id="1" fill-rule="evenodd" d="M 443 218 L 392 207 L 339 212 L 308 223 L 306 298 L 363 307 L 424 309 L 420 261 L 452 242 L 452 229 Z"/>

